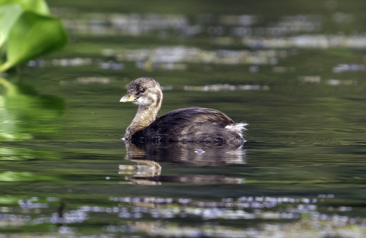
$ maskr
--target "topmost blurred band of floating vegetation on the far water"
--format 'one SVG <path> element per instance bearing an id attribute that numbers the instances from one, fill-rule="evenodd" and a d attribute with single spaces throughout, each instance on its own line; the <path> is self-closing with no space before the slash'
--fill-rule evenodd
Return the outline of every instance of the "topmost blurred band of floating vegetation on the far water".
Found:
<path id="1" fill-rule="evenodd" d="M 299 33 L 319 32 L 324 22 L 321 15 L 287 15 L 271 26 L 258 26 L 264 20 L 257 15 L 214 15 L 198 14 L 188 19 L 182 14 L 116 14 L 88 13 L 78 18 L 77 12 L 65 14 L 59 8 L 52 12 L 64 18 L 66 28 L 74 34 L 143 36 L 152 32 L 192 37 L 198 34 L 207 36 L 286 36 Z M 348 16 L 347 19 L 350 17 Z M 333 16 L 337 23 L 346 17 Z M 348 20 L 347 20 L 348 21 Z M 257 25 L 255 25 L 257 24 Z"/>

